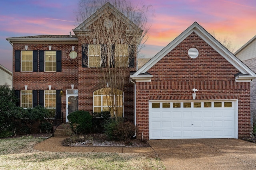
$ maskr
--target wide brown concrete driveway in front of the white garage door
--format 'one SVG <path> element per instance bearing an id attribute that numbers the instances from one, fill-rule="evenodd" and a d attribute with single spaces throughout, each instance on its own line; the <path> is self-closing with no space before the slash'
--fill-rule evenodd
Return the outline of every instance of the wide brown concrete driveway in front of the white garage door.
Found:
<path id="1" fill-rule="evenodd" d="M 256 144 L 240 139 L 150 140 L 167 170 L 256 169 Z"/>

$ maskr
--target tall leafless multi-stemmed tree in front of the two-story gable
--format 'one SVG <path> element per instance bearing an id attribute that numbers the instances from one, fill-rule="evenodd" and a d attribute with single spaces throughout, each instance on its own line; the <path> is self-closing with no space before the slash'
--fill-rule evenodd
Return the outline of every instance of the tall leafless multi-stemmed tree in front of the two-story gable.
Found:
<path id="1" fill-rule="evenodd" d="M 81 0 L 77 12 L 83 33 L 79 39 L 88 56 L 83 64 L 96 68 L 112 117 L 121 117 L 124 84 L 136 68 L 137 53 L 147 39 L 150 6 L 128 0 Z M 83 24 L 81 24 L 83 23 Z"/>

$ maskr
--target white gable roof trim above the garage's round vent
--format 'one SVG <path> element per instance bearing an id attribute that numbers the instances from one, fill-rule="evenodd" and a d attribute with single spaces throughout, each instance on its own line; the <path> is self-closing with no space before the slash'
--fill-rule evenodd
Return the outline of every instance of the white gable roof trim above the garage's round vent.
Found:
<path id="1" fill-rule="evenodd" d="M 199 37 L 201 37 L 208 45 L 210 45 L 214 50 L 216 50 L 222 57 L 224 57 L 230 64 L 232 64 L 236 69 L 239 70 L 239 74 L 236 79 L 242 78 L 246 75 L 246 78 L 252 80 L 256 78 L 256 74 L 240 61 L 234 54 L 232 54 L 226 47 L 224 47 L 219 41 L 217 41 L 210 33 L 208 33 L 202 26 L 197 22 L 194 22 L 190 27 L 188 27 L 184 32 L 182 32 L 178 37 L 176 37 L 171 43 L 169 43 L 164 49 L 157 53 L 148 63 L 137 70 L 131 78 L 139 78 L 141 74 L 146 73 L 154 64 L 160 61 L 164 56 L 166 56 L 172 49 L 174 49 L 178 44 L 180 44 L 188 35 L 195 32 Z M 152 77 L 152 75 L 150 76 Z M 144 77 L 146 78 L 146 77 Z M 149 81 L 149 80 L 148 80 Z"/>

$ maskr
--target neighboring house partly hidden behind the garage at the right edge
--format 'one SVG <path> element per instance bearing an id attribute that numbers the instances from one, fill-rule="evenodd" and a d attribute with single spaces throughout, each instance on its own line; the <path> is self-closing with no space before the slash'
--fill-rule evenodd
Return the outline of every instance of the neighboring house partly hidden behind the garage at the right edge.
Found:
<path id="1" fill-rule="evenodd" d="M 234 55 L 256 72 L 256 36 L 238 49 Z M 251 82 L 251 116 L 256 116 L 256 80 Z"/>

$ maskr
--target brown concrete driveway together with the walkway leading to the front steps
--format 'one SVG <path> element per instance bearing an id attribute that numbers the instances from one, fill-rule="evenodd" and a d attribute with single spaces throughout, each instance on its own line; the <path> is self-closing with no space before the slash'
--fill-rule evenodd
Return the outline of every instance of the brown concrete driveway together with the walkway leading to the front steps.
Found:
<path id="1" fill-rule="evenodd" d="M 66 137 L 51 137 L 34 146 L 49 152 L 119 152 L 157 155 L 167 170 L 256 170 L 256 144 L 240 139 L 150 140 L 151 148 L 63 147 Z"/>

